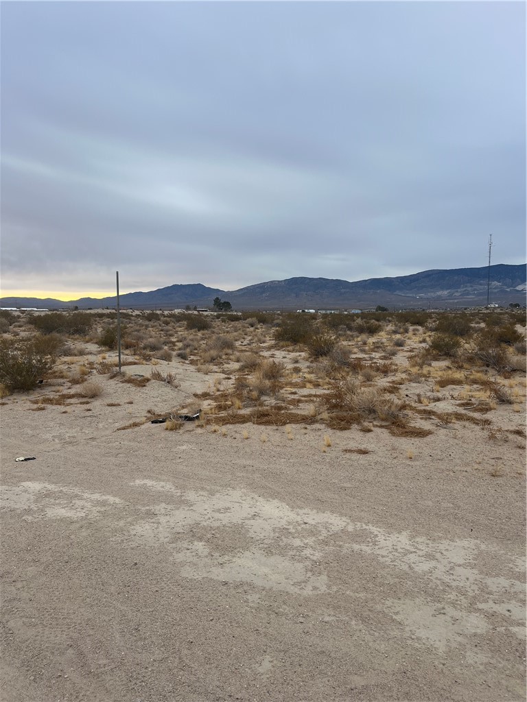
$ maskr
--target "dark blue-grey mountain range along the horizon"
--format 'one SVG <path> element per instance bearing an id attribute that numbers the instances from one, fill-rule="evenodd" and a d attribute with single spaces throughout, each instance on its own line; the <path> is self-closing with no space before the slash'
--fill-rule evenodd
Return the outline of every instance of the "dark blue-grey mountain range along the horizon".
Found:
<path id="1" fill-rule="evenodd" d="M 393 278 L 370 278 L 349 282 L 329 278 L 289 278 L 249 285 L 239 290 L 219 290 L 200 283 L 170 285 L 146 293 L 126 293 L 122 307 L 136 309 L 212 307 L 218 296 L 229 300 L 235 310 L 298 310 L 302 308 L 358 308 L 384 305 L 403 307 L 470 307 L 484 305 L 487 300 L 488 267 L 426 270 Z M 525 303 L 527 267 L 498 264 L 490 267 L 491 302 L 508 305 Z M 1 307 L 115 307 L 116 298 L 0 298 Z"/>

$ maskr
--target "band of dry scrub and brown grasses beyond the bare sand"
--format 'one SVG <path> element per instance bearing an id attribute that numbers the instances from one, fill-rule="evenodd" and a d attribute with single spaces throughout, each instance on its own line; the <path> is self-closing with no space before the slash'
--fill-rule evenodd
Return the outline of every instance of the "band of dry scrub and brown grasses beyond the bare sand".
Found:
<path id="1" fill-rule="evenodd" d="M 519 311 L 122 316 L 119 376 L 114 312 L 4 313 L 3 394 L 41 381 L 41 392 L 78 386 L 91 399 L 104 392 L 112 406 L 122 384 L 152 396 L 150 380 L 175 390 L 188 387 L 188 376 L 193 392 L 178 402 L 200 402 L 204 424 L 209 417 L 216 426 L 368 425 L 421 438 L 439 431 L 445 416 L 448 425 L 479 425 L 483 414 L 507 425 L 507 406 L 516 427 L 525 399 Z"/>

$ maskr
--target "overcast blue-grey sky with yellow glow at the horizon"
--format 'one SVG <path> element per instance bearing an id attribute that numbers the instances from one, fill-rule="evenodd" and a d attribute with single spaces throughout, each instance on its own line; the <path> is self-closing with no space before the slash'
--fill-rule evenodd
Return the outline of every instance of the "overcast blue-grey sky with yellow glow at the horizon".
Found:
<path id="1" fill-rule="evenodd" d="M 1 14 L 4 295 L 525 262 L 523 3 Z"/>

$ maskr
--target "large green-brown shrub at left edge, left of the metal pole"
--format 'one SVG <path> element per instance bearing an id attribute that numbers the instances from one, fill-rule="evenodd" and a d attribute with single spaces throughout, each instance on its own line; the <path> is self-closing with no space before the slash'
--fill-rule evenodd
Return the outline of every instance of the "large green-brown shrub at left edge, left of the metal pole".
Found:
<path id="1" fill-rule="evenodd" d="M 55 362 L 38 339 L 0 339 L 0 383 L 8 390 L 33 390 Z"/>

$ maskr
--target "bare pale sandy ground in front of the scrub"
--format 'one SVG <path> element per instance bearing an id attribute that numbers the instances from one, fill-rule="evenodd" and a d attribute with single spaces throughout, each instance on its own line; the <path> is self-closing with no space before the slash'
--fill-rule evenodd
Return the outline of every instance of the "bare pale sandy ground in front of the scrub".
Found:
<path id="1" fill-rule="evenodd" d="M 521 437 L 117 430 L 182 373 L 5 399 L 2 702 L 525 698 Z"/>

